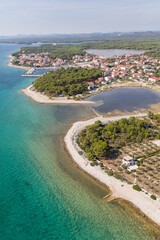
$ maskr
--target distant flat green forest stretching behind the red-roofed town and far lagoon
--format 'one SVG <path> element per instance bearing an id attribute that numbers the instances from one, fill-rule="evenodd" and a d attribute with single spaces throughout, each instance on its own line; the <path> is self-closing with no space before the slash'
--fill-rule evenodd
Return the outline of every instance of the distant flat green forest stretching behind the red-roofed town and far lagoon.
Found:
<path id="1" fill-rule="evenodd" d="M 135 49 L 145 50 L 145 54 L 160 57 L 160 40 L 108 40 L 105 42 L 88 42 L 81 44 L 45 44 L 38 47 L 23 47 L 19 52 L 13 53 L 18 57 L 20 53 L 49 52 L 52 59 L 56 57 L 71 60 L 76 54 L 84 55 L 86 49 Z"/>

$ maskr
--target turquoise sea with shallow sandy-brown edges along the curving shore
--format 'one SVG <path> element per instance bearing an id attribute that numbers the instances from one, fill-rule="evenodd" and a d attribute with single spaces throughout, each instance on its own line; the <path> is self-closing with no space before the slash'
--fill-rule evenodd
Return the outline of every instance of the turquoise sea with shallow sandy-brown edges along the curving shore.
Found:
<path id="1" fill-rule="evenodd" d="M 20 92 L 33 78 L 6 66 L 0 45 L 0 240 L 153 240 L 160 231 L 68 156 L 63 136 L 92 116 L 84 106 L 38 104 Z"/>

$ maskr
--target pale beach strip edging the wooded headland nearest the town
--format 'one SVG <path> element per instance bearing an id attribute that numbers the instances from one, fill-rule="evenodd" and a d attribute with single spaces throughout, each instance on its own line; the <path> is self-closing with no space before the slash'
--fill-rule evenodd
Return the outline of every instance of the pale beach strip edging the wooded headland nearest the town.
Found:
<path id="1" fill-rule="evenodd" d="M 28 86 L 25 89 L 22 89 L 21 92 L 23 92 L 25 95 L 28 97 L 32 98 L 34 101 L 38 103 L 50 103 L 50 104 L 94 104 L 95 102 L 92 101 L 75 101 L 73 99 L 67 99 L 67 97 L 55 97 L 53 99 L 50 99 L 48 96 L 37 92 L 33 91 L 31 88 L 33 85 Z"/>

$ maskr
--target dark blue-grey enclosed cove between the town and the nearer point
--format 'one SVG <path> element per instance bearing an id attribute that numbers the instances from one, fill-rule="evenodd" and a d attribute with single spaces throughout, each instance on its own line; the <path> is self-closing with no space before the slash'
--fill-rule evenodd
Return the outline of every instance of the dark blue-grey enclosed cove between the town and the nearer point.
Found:
<path id="1" fill-rule="evenodd" d="M 87 100 L 95 101 L 97 105 L 93 108 L 102 114 L 115 110 L 132 112 L 160 103 L 160 93 L 142 87 L 123 87 L 93 95 Z"/>

